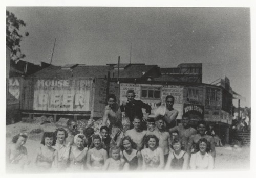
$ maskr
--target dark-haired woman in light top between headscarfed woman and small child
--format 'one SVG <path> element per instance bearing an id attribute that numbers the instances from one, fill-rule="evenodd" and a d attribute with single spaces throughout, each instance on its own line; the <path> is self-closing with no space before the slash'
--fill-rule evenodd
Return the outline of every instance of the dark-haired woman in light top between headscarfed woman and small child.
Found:
<path id="1" fill-rule="evenodd" d="M 89 170 L 102 170 L 102 167 L 108 158 L 106 150 L 102 148 L 99 135 L 93 136 L 94 147 L 89 149 L 86 159 L 86 166 Z"/>

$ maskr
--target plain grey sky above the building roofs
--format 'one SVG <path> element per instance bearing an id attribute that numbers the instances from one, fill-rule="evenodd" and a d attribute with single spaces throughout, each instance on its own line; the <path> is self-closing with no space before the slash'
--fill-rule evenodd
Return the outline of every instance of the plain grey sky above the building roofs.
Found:
<path id="1" fill-rule="evenodd" d="M 229 78 L 251 105 L 250 8 L 7 7 L 26 27 L 23 60 L 53 65 L 202 63 L 203 83 Z M 132 45 L 132 50 L 131 50 Z M 130 53 L 131 52 L 131 53 Z M 238 106 L 238 100 L 233 100 Z"/>

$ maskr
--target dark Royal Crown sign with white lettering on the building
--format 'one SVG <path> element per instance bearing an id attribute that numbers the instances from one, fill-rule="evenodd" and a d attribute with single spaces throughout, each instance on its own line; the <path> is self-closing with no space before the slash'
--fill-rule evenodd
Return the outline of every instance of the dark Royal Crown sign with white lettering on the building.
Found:
<path id="1" fill-rule="evenodd" d="M 188 113 L 192 120 L 202 120 L 204 118 L 204 106 L 184 103 L 183 113 Z"/>

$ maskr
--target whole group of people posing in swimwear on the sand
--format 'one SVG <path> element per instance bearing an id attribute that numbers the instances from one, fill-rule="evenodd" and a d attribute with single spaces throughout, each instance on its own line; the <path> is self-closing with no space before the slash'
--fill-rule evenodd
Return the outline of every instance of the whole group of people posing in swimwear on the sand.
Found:
<path id="1" fill-rule="evenodd" d="M 206 123 L 199 121 L 197 130 L 189 126 L 184 114 L 182 125 L 175 126 L 178 111 L 175 98 L 166 97 L 166 106 L 155 118 L 148 118 L 151 106 L 135 100 L 133 90 L 126 93 L 127 102 L 119 106 L 116 96 L 108 96 L 99 133 L 92 128 L 77 132 L 77 122 L 70 119 L 67 131 L 58 128 L 45 132 L 32 163 L 39 170 L 170 170 L 213 169 L 215 140 L 206 134 Z M 146 110 L 143 115 L 142 108 Z M 130 130 L 124 131 L 122 115 L 130 119 Z M 107 124 L 109 119 L 110 125 Z M 151 128 L 154 125 L 154 129 Z M 150 129 L 151 128 L 151 129 Z M 13 137 L 7 150 L 7 166 L 23 169 L 30 162 L 24 146 L 28 136 Z M 31 163 L 30 163 L 31 165 Z"/>

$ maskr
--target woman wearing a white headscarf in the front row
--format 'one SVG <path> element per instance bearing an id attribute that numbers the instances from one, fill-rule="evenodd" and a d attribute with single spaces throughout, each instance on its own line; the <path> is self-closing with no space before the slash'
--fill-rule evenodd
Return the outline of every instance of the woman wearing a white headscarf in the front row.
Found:
<path id="1" fill-rule="evenodd" d="M 86 165 L 86 155 L 88 148 L 83 146 L 83 134 L 77 134 L 74 137 L 74 143 L 70 150 L 70 169 L 82 170 Z"/>

